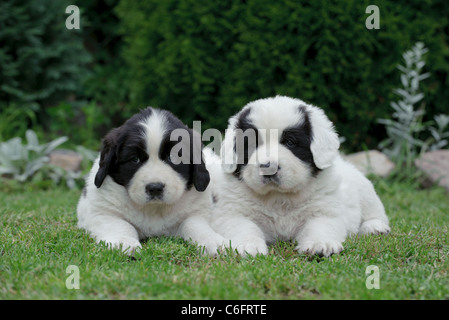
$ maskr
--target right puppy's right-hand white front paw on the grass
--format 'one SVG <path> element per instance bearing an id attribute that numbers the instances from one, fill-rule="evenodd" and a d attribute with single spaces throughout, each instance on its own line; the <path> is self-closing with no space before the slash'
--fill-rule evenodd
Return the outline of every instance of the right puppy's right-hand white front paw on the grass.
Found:
<path id="1" fill-rule="evenodd" d="M 329 257 L 343 250 L 346 238 L 344 223 L 336 218 L 319 217 L 306 222 L 296 237 L 296 250 Z"/>

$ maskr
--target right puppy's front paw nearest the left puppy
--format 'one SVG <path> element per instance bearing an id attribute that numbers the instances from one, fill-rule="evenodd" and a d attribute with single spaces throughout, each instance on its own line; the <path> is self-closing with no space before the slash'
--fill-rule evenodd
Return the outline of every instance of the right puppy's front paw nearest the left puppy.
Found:
<path id="1" fill-rule="evenodd" d="M 228 216 L 216 219 L 214 226 L 227 239 L 230 247 L 241 255 L 268 254 L 265 236 L 260 228 L 243 216 Z M 229 245 L 229 243 L 227 244 Z"/>

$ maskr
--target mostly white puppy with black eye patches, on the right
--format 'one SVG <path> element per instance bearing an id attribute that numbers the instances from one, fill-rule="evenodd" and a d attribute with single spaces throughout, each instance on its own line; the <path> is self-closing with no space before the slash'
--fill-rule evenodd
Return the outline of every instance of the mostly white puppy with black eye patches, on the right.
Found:
<path id="1" fill-rule="evenodd" d="M 239 253 L 267 254 L 267 243 L 296 240 L 299 252 L 330 256 L 350 234 L 387 234 L 373 185 L 340 158 L 324 112 L 276 96 L 231 117 L 214 226 Z"/>

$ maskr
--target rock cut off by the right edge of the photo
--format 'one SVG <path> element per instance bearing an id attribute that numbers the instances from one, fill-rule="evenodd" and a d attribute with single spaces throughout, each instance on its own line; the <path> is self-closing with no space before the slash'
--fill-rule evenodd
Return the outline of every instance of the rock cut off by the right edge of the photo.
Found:
<path id="1" fill-rule="evenodd" d="M 415 160 L 415 166 L 432 184 L 437 184 L 449 191 L 449 150 L 426 152 Z"/>

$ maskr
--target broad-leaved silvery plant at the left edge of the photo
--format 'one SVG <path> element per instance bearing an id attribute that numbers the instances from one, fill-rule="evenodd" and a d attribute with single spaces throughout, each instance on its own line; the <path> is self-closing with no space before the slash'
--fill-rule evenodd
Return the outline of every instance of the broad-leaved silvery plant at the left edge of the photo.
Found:
<path id="1" fill-rule="evenodd" d="M 39 144 L 33 130 L 26 131 L 26 144 L 20 137 L 0 142 L 0 176 L 6 175 L 17 181 L 29 181 L 50 160 L 49 154 L 67 141 L 59 137 L 49 143 Z"/>

